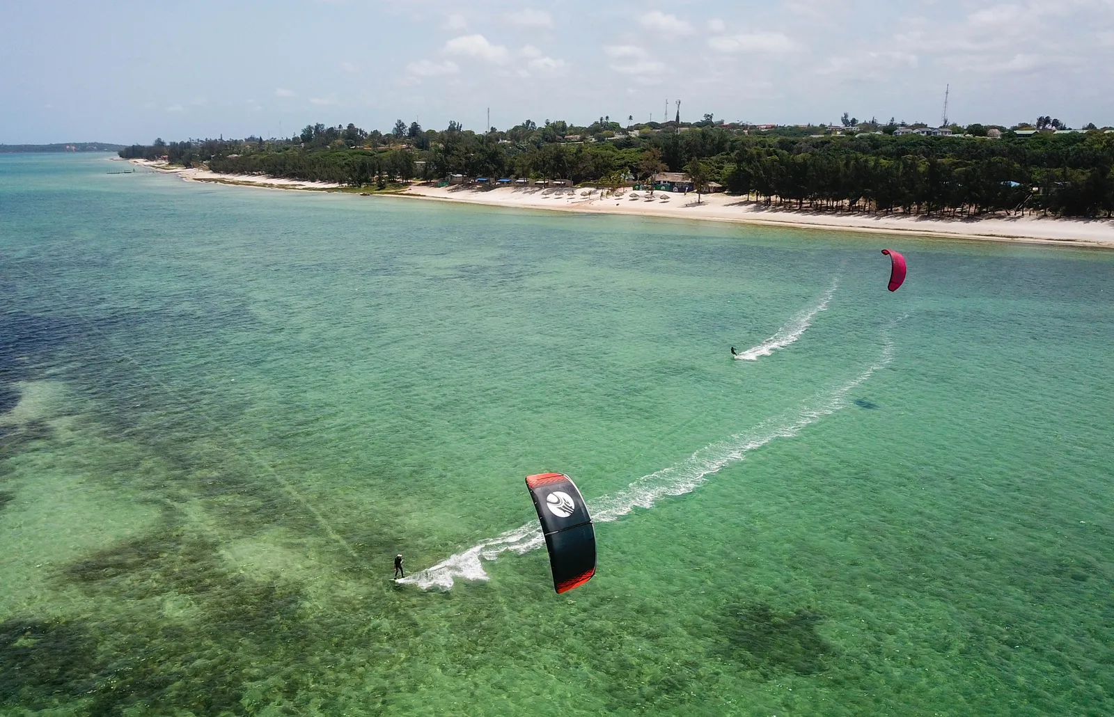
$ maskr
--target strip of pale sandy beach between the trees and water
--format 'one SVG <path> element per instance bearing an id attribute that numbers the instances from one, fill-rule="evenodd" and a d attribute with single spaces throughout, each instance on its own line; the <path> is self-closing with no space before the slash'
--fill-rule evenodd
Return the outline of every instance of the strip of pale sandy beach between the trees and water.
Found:
<path id="1" fill-rule="evenodd" d="M 163 163 L 135 159 L 131 161 L 177 174 L 183 179 L 190 181 L 319 191 L 341 187 L 339 184 L 324 181 L 300 181 L 256 175 L 222 175 L 203 169 L 170 168 Z M 1000 215 L 974 219 L 947 219 L 900 215 L 811 213 L 766 208 L 762 203 L 746 202 L 740 197 L 723 194 L 704 195 L 701 204 L 697 205 L 696 196 L 693 194 L 685 196 L 658 191 L 654 193 L 653 199 L 647 199 L 648 195 L 644 191 L 627 190 L 618 197 L 602 197 L 599 191 L 586 194 L 588 191 L 584 188 L 502 187 L 483 190 L 472 186 L 433 187 L 420 185 L 411 186 L 405 191 L 392 196 L 520 209 L 622 214 L 840 232 L 916 234 L 960 239 L 1114 248 L 1114 219 L 1004 217 Z"/>

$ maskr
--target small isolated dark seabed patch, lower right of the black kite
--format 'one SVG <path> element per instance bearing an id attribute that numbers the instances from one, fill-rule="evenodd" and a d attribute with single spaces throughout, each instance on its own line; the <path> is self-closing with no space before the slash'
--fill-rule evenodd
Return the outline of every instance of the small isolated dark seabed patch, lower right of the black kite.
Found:
<path id="1" fill-rule="evenodd" d="M 769 605 L 729 606 L 719 619 L 732 655 L 768 677 L 815 675 L 828 668 L 836 647 L 817 628 L 823 616 L 804 608 L 779 612 Z"/>

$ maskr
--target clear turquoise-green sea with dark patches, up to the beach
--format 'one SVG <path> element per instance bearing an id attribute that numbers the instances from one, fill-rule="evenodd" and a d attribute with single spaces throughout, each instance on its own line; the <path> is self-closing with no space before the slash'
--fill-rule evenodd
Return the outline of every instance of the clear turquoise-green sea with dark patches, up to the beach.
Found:
<path id="1" fill-rule="evenodd" d="M 0 714 L 1114 713 L 1114 253 L 110 168 L 0 157 Z"/>

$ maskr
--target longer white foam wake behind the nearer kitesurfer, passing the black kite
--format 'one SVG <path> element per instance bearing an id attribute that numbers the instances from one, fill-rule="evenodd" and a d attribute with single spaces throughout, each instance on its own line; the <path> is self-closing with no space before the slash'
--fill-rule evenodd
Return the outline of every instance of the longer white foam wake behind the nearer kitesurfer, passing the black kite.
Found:
<path id="1" fill-rule="evenodd" d="M 834 286 L 834 285 L 833 285 Z M 893 343 L 886 336 L 886 347 L 878 360 L 852 381 L 837 387 L 825 396 L 814 396 L 802 405 L 801 410 L 790 415 L 781 415 L 763 421 L 750 431 L 736 433 L 723 441 L 705 445 L 687 459 L 662 469 L 656 473 L 643 475 L 623 490 L 612 495 L 602 495 L 589 501 L 593 519 L 596 522 L 612 522 L 626 515 L 635 508 L 651 508 L 654 503 L 668 495 L 684 495 L 700 488 L 709 475 L 737 463 L 756 448 L 780 438 L 793 438 L 805 426 L 815 423 L 825 415 L 831 415 L 847 404 L 847 395 L 856 386 L 890 363 L 893 356 Z M 545 544 L 541 529 L 537 523 L 527 523 L 515 530 L 508 530 L 496 538 L 483 540 L 465 552 L 457 553 L 431 568 L 420 570 L 399 582 L 416 585 L 422 590 L 433 588 L 448 590 L 453 581 L 487 580 L 487 572 L 480 560 L 495 560 L 501 553 L 511 551 L 524 553 Z"/>

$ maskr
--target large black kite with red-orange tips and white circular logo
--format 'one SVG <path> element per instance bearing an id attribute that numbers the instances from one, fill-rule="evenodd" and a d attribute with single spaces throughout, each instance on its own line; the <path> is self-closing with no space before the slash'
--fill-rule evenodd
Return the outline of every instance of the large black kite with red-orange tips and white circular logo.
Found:
<path id="1" fill-rule="evenodd" d="M 596 573 L 596 531 L 573 480 L 561 473 L 526 477 L 549 550 L 554 589 L 567 592 Z"/>

